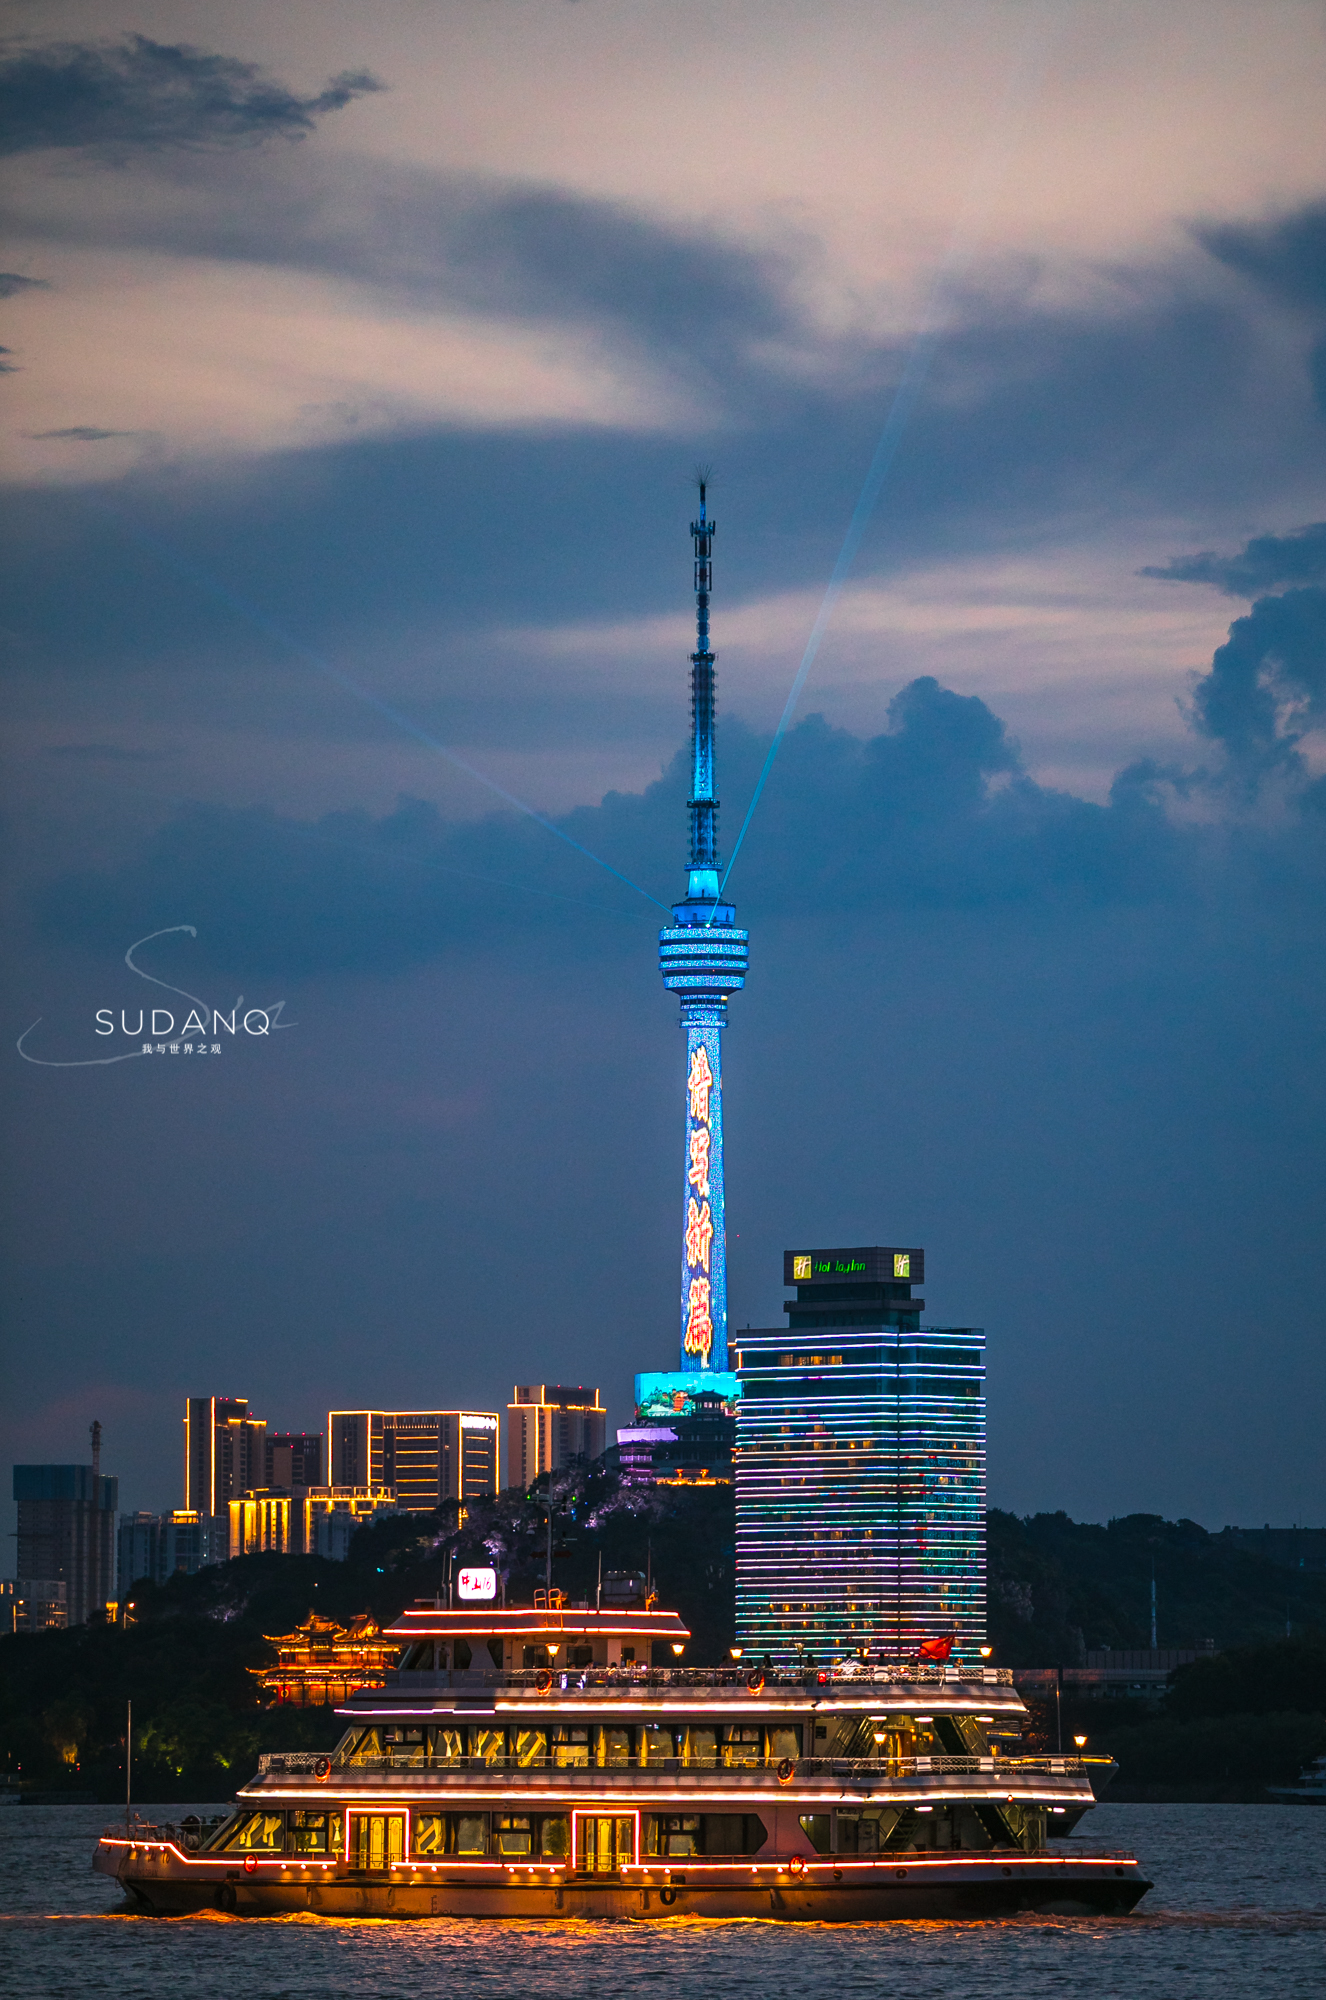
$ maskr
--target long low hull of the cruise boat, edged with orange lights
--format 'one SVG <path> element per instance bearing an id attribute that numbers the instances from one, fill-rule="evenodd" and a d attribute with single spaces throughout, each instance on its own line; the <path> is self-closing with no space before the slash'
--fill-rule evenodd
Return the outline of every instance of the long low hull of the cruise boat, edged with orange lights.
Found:
<path id="1" fill-rule="evenodd" d="M 314 1912 L 352 1918 L 764 1918 L 786 1924 L 878 1924 L 1038 1916 L 1128 1916 L 1150 1882 L 1132 1860 L 1028 1854 L 880 1860 L 842 1868 L 786 1866 L 694 1870 L 664 1880 L 640 1870 L 620 1876 L 518 1880 L 420 1872 L 390 1876 L 284 1870 L 284 1878 L 196 1862 L 174 1848 L 102 1842 L 94 1866 L 114 1876 L 134 1906 L 152 1916 L 222 1910 L 234 1916 Z"/>

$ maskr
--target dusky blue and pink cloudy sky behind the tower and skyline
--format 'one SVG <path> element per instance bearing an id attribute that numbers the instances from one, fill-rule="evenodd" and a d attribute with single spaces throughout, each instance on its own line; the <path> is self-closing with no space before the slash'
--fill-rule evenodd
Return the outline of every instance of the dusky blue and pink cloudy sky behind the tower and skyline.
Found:
<path id="1" fill-rule="evenodd" d="M 1320 1522 L 1320 8 L 8 20 L 4 1466 L 676 1364 L 692 470 L 730 852 L 892 412 L 730 1324 L 924 1244 L 996 1504 Z M 102 1060 L 182 994 L 272 1032 Z"/>

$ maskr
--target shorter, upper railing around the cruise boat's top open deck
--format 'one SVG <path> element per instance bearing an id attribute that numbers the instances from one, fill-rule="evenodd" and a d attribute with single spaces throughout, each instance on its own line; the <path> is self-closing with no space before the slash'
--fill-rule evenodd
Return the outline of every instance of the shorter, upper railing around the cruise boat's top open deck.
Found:
<path id="1" fill-rule="evenodd" d="M 488 1690 L 532 1688 L 548 1692 L 548 1672 L 558 1690 L 612 1688 L 620 1694 L 636 1688 L 728 1688 L 748 1694 L 752 1680 L 770 1694 L 818 1694 L 822 1688 L 952 1688 L 984 1686 L 1012 1688 L 1008 1666 L 822 1666 L 798 1674 L 760 1666 L 514 1666 L 514 1668 L 390 1668 L 386 1686 L 402 1692 L 440 1688 Z"/>

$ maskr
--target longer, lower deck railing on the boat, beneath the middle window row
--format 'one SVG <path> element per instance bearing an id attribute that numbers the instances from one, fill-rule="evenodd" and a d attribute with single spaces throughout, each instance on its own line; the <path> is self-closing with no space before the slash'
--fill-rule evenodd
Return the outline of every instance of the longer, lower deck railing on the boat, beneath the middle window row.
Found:
<path id="1" fill-rule="evenodd" d="M 380 1756 L 360 1756 L 352 1754 L 348 1758 L 332 1756 L 316 1750 L 292 1750 L 292 1752 L 264 1752 L 258 1758 L 258 1770 L 262 1776 L 270 1778 L 298 1778 L 314 1772 L 316 1776 L 352 1774 L 352 1772 L 424 1772 L 438 1778 L 458 1778 L 472 1782 L 474 1778 L 496 1778 L 502 1782 L 520 1784 L 546 1784 L 548 1774 L 556 1774 L 558 1782 L 584 1782 L 584 1784 L 612 1784 L 614 1780 L 638 1784 L 640 1772 L 646 1770 L 650 1778 L 712 1778 L 722 1780 L 722 1784 L 746 1782 L 746 1784 L 768 1784 L 770 1776 L 778 1772 L 778 1762 L 770 1764 L 720 1764 L 714 1760 L 688 1762 L 684 1758 L 650 1758 L 646 1764 L 636 1760 L 624 1760 L 618 1764 L 560 1764 L 554 1756 L 542 1756 L 532 1762 L 522 1762 L 514 1756 L 460 1756 L 460 1758 L 432 1758 L 426 1756 L 418 1746 L 402 1746 L 394 1754 Z M 1086 1764 L 1078 1756 L 908 1756 L 908 1758 L 820 1758 L 804 1756 L 792 1762 L 792 1772 L 780 1782 L 792 1784 L 796 1778 L 840 1778 L 844 1784 L 860 1780 L 912 1780 L 920 1786 L 930 1778 L 1008 1778 L 1016 1784 L 1020 1778 L 1034 1778 L 1044 1774 L 1056 1776 L 1084 1776 Z M 330 1770 L 324 1770 L 330 1766 Z"/>

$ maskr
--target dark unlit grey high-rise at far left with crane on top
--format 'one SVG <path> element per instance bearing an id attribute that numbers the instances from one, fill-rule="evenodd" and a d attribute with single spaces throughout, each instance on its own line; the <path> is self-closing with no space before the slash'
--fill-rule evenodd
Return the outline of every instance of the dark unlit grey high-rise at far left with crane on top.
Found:
<path id="1" fill-rule="evenodd" d="M 94 1452 L 98 1440 L 94 1440 Z M 96 1466 L 14 1466 L 18 1580 L 30 1604 L 58 1604 L 68 1624 L 86 1624 L 116 1594 L 116 1502 L 120 1482 Z"/>

